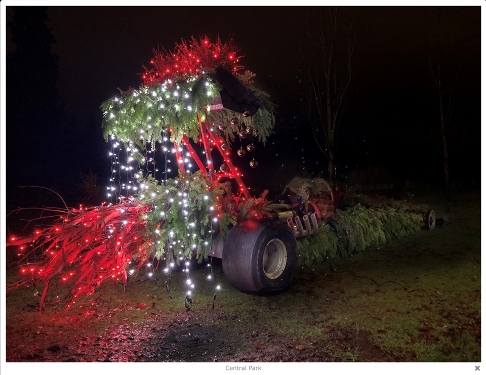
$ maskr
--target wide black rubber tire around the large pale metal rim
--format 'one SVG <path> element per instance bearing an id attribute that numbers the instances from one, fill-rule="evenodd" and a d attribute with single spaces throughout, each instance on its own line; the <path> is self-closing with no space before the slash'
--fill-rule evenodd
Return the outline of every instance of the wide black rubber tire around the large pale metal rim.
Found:
<path id="1" fill-rule="evenodd" d="M 285 246 L 280 247 L 280 254 L 285 254 L 286 259 L 281 274 L 274 278 L 267 277 L 263 268 L 265 248 L 272 240 Z M 289 286 L 297 269 L 297 240 L 284 223 L 272 219 L 244 220 L 229 231 L 222 263 L 226 279 L 240 291 L 282 290 Z"/>

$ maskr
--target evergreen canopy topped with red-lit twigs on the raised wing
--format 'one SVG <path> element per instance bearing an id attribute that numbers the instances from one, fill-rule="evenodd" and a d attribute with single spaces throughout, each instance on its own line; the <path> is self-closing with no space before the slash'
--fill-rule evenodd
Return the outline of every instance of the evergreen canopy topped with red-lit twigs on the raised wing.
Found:
<path id="1" fill-rule="evenodd" d="M 228 123 L 234 112 L 208 110 L 222 90 L 215 78 L 215 69 L 220 66 L 231 71 L 260 103 L 259 110 L 250 121 L 254 135 L 265 142 L 273 133 L 275 106 L 266 93 L 252 86 L 255 74 L 250 71 L 239 74 L 236 71 L 241 65 L 236 64 L 239 59 L 235 59 L 236 55 L 232 52 L 235 50 L 237 47 L 232 39 L 223 44 L 218 38 L 215 44 L 210 44 L 207 38 L 201 38 L 199 42 L 193 38 L 190 45 L 185 41 L 181 45 L 176 44 L 174 52 L 156 53 L 155 67 L 143 75 L 145 81 L 139 89 L 120 91 L 120 97 L 110 98 L 101 105 L 105 140 L 113 135 L 125 145 L 133 143 L 144 147 L 150 142 L 154 148 L 155 141 L 159 141 L 162 134 L 170 135 L 171 142 L 179 142 L 184 135 L 197 142 L 200 135 L 199 119 Z M 218 56 L 216 61 L 211 60 L 212 56 Z M 229 56 L 230 60 L 226 60 L 231 63 L 225 60 L 226 56 Z M 197 64 L 194 59 L 198 61 Z M 234 64 L 233 60 L 236 60 Z M 178 70 L 168 74 L 168 66 L 178 67 Z M 161 69 L 165 69 L 164 74 Z M 215 127 L 214 131 L 232 141 L 240 129 L 239 125 L 229 126 L 222 132 Z"/>

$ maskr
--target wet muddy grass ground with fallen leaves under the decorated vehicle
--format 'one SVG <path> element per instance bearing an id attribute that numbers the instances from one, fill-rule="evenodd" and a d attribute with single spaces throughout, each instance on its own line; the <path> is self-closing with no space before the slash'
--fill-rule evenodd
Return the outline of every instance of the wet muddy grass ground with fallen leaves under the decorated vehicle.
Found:
<path id="1" fill-rule="evenodd" d="M 442 193 L 417 192 L 438 217 Z M 473 361 L 481 359 L 480 191 L 453 192 L 450 225 L 348 259 L 299 269 L 288 290 L 242 294 L 221 263 L 130 287 L 40 317 L 35 290 L 7 297 L 8 362 Z M 14 280 L 15 270 L 8 273 Z M 216 285 L 221 285 L 212 308 Z"/>

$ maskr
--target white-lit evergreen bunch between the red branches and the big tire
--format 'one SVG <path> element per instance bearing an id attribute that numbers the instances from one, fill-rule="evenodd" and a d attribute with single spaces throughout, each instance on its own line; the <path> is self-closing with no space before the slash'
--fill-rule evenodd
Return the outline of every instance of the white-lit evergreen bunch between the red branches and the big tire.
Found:
<path id="1" fill-rule="evenodd" d="M 185 179 L 168 179 L 165 185 L 152 177 L 142 181 L 134 200 L 153 206 L 140 220 L 152 246 L 149 254 L 157 259 L 169 253 L 177 264 L 181 257 L 191 259 L 194 254 L 199 262 L 207 260 L 218 232 L 227 232 L 236 222 L 219 207 L 219 200 L 230 193 L 229 185 L 210 186 L 200 171 Z"/>

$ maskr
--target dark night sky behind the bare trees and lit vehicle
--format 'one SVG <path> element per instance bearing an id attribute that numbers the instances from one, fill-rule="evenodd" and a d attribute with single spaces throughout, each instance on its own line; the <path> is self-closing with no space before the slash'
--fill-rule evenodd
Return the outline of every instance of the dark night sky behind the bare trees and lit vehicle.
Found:
<path id="1" fill-rule="evenodd" d="M 375 165 L 396 179 L 414 175 L 440 182 L 440 154 L 429 138 L 438 122 L 427 96 L 426 75 L 427 46 L 440 40 L 444 79 L 451 79 L 461 66 L 451 128 L 457 135 L 454 139 L 463 134 L 465 139 L 458 145 L 453 142 L 457 150 L 451 158 L 452 180 L 470 183 L 474 176 L 478 181 L 480 7 L 347 7 L 344 12 L 346 19 L 354 19 L 356 44 L 337 153 L 342 179 L 356 165 L 357 169 Z M 11 15 L 8 9 L 8 18 Z M 191 35 L 207 34 L 214 40 L 218 33 L 223 39 L 232 34 L 246 55 L 242 63 L 257 74 L 256 86 L 279 107 L 276 135 L 265 149 L 259 146 L 256 171 L 286 170 L 290 180 L 296 171 L 307 172 L 309 167 L 301 168 L 312 165 L 311 172 L 323 170 L 325 176 L 326 168 L 320 165 L 324 167 L 326 160 L 318 153 L 302 112 L 303 62 L 298 48 L 306 43 L 304 18 L 302 7 L 50 8 L 47 22 L 56 39 L 53 50 L 59 56 L 58 90 L 65 123 L 55 132 L 49 125 L 32 131 L 25 124 L 9 122 L 7 113 L 11 204 L 21 204 L 21 195 L 13 193 L 19 185 L 72 194 L 80 183 L 79 174 L 90 169 L 105 185 L 109 147 L 101 135 L 100 104 L 118 94 L 117 88 L 139 86 L 137 73 L 143 71 L 142 64 L 148 66 L 152 47 L 173 49 L 180 38 Z M 8 41 L 7 51 L 15 48 Z M 8 78 L 14 83 L 23 79 Z M 9 97 L 9 86 L 7 98 L 10 110 L 22 110 L 15 107 L 17 99 Z M 291 162 L 294 165 L 287 167 Z M 287 164 L 283 169 L 282 163 Z"/>

